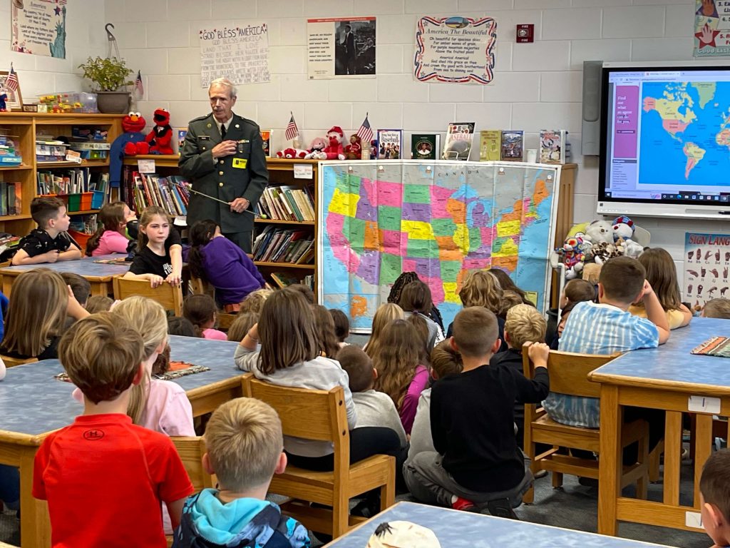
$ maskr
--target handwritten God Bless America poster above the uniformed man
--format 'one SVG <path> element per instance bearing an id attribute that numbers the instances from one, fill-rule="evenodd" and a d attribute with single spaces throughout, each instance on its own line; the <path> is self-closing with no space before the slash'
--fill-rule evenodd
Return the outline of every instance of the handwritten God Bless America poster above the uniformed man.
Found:
<path id="1" fill-rule="evenodd" d="M 198 37 L 201 88 L 209 87 L 216 78 L 228 78 L 234 84 L 271 81 L 266 23 L 201 28 Z"/>

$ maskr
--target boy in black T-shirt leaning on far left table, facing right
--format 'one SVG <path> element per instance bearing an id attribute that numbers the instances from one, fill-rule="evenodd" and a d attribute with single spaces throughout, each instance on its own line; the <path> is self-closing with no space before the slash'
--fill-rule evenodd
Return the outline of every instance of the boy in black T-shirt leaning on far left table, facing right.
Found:
<path id="1" fill-rule="evenodd" d="M 81 248 L 67 232 L 71 218 L 66 204 L 56 197 L 38 197 L 31 202 L 31 217 L 38 227 L 18 243 L 13 265 L 81 259 Z"/>

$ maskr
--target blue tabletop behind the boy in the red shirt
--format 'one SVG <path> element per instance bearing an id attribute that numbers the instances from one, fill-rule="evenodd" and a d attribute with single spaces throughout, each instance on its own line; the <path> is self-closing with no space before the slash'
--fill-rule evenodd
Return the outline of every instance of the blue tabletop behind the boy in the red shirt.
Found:
<path id="1" fill-rule="evenodd" d="M 186 391 L 244 374 L 233 361 L 235 341 L 171 335 L 169 344 L 173 360 L 210 368 L 174 379 Z M 9 368 L 0 381 L 0 430 L 39 435 L 71 424 L 82 406 L 71 397 L 73 384 L 53 378 L 63 370 L 58 359 Z"/>

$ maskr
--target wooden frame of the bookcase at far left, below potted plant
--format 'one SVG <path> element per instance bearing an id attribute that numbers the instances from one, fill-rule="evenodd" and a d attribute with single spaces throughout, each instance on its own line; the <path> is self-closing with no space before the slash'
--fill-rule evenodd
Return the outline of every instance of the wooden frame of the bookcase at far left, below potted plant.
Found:
<path id="1" fill-rule="evenodd" d="M 93 172 L 109 171 L 109 159 L 72 161 L 36 161 L 36 136 L 70 137 L 72 127 L 84 126 L 107 132 L 107 142 L 122 133 L 123 115 L 115 114 L 53 114 L 53 113 L 0 113 L 0 134 L 12 136 L 18 142 L 23 161 L 18 166 L 0 167 L 0 183 L 20 183 L 20 212 L 0 216 L 0 232 L 26 235 L 35 228 L 31 218 L 31 200 L 37 196 L 37 173 L 88 167 Z M 98 210 L 69 211 L 69 215 L 87 215 Z"/>

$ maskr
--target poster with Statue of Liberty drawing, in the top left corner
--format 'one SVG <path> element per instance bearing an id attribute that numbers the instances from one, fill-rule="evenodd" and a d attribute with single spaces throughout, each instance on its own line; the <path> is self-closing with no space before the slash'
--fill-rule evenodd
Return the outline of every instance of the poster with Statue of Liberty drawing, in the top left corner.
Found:
<path id="1" fill-rule="evenodd" d="M 13 1 L 10 50 L 66 58 L 66 0 Z"/>

